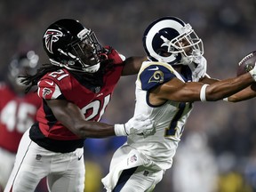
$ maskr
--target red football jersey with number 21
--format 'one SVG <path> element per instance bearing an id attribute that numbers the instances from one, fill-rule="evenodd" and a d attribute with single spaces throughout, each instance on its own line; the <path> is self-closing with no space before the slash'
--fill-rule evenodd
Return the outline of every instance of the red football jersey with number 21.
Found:
<path id="1" fill-rule="evenodd" d="M 38 95 L 45 100 L 68 100 L 75 103 L 82 111 L 86 120 L 100 121 L 114 88 L 121 76 L 124 65 L 118 52 L 108 52 L 108 59 L 113 60 L 114 68 L 108 70 L 103 76 L 104 84 L 100 87 L 89 89 L 79 82 L 67 69 L 47 73 L 38 83 Z M 89 83 L 90 84 L 90 83 Z M 44 136 L 53 140 L 78 140 L 73 132 L 60 124 L 52 114 L 51 108 L 45 103 L 39 108 L 36 120 Z"/>

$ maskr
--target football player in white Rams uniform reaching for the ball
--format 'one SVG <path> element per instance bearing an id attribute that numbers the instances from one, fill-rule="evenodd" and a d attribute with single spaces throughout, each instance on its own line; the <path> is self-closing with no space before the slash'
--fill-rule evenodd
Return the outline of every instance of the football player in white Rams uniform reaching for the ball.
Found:
<path id="1" fill-rule="evenodd" d="M 116 150 L 108 175 L 102 179 L 112 192 L 155 188 L 172 166 L 195 101 L 239 101 L 256 95 L 251 86 L 256 80 L 256 68 L 221 81 L 208 76 L 203 42 L 179 18 L 169 16 L 153 21 L 142 41 L 148 60 L 137 77 L 134 116 L 143 114 L 154 120 L 156 132 L 129 135 Z"/>

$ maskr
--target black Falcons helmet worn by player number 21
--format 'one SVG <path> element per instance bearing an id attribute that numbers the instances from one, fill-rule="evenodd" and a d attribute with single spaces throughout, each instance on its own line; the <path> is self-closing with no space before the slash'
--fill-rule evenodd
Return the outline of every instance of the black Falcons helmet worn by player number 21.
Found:
<path id="1" fill-rule="evenodd" d="M 102 47 L 94 32 L 78 20 L 52 23 L 44 32 L 43 44 L 52 65 L 86 73 L 100 68 Z"/>

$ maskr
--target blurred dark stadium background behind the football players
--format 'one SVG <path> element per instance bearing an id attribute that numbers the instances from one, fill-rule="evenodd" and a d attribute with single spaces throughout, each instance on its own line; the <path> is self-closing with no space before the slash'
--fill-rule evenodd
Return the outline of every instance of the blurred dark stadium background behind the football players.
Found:
<path id="1" fill-rule="evenodd" d="M 48 62 L 42 37 L 45 28 L 55 20 L 80 20 L 94 30 L 101 44 L 109 44 L 129 57 L 144 54 L 141 37 L 145 28 L 167 15 L 185 20 L 203 39 L 208 74 L 212 77 L 236 76 L 238 61 L 256 50 L 255 0 L 2 0 L 1 79 L 16 52 L 32 49 L 39 54 L 41 63 Z M 124 123 L 132 116 L 135 78 L 122 77 L 103 121 Z M 255 191 L 255 106 L 255 99 L 236 104 L 195 103 L 177 159 L 156 191 L 186 192 L 187 186 L 189 192 Z M 103 191 L 100 177 L 108 172 L 113 150 L 124 140 L 86 140 L 86 191 Z"/>

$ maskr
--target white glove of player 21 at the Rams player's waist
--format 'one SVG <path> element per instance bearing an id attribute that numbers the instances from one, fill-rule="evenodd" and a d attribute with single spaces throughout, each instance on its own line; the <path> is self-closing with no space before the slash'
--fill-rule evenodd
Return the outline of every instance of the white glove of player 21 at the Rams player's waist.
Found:
<path id="1" fill-rule="evenodd" d="M 130 134 L 148 135 L 155 130 L 155 121 L 147 116 L 133 116 L 126 124 L 115 124 L 116 136 L 127 136 Z"/>

